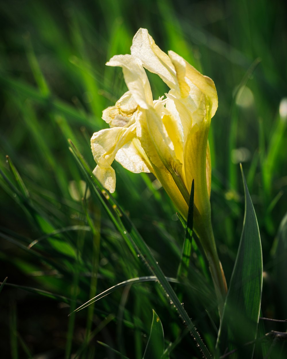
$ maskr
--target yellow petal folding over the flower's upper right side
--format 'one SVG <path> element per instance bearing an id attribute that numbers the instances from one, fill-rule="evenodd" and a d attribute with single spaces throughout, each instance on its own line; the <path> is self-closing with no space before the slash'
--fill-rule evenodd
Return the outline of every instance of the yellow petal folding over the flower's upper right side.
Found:
<path id="1" fill-rule="evenodd" d="M 213 117 L 218 106 L 218 97 L 212 79 L 202 75 L 177 53 L 169 51 L 168 54 L 177 73 L 182 97 L 185 98 L 188 96 L 188 87 L 190 88 L 190 84 L 195 85 L 204 95 L 206 95 L 211 103 L 211 117 Z M 190 88 L 189 96 L 195 99 L 198 96 L 198 93 L 195 89 Z"/>

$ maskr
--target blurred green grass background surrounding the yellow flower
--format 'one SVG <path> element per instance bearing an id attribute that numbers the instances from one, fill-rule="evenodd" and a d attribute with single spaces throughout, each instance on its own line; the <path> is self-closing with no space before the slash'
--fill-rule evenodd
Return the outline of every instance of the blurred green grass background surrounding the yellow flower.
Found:
<path id="1" fill-rule="evenodd" d="M 142 358 L 152 308 L 166 346 L 180 338 L 171 358 L 198 357 L 155 283 L 118 289 L 67 317 L 71 298 L 75 308 L 112 285 L 149 275 L 86 190 L 67 142 L 95 167 L 89 139 L 107 126 L 102 110 L 126 90 L 121 69 L 105 62 L 129 53 L 140 27 L 162 50 L 177 52 L 215 81 L 211 204 L 219 256 L 228 282 L 244 215 L 242 162 L 262 239 L 263 316 L 286 318 L 287 250 L 277 248 L 278 238 L 287 243 L 286 220 L 277 235 L 287 209 L 286 2 L 11 0 L 0 10 L 0 280 L 8 276 L 0 293 L 3 358 L 119 357 L 97 341 Z M 149 78 L 154 98 L 167 91 L 156 75 Z M 114 168 L 114 197 L 166 276 L 175 277 L 184 238 L 176 209 L 152 176 Z M 216 325 L 218 317 L 201 260 L 199 248 L 184 305 L 212 348 L 210 316 Z"/>

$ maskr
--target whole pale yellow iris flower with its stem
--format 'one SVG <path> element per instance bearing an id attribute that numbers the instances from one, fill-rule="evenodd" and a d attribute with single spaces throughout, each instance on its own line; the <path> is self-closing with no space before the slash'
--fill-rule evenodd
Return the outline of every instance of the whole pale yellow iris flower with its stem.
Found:
<path id="1" fill-rule="evenodd" d="M 194 228 L 211 263 L 213 280 L 218 282 L 215 286 L 223 296 L 225 284 L 214 278 L 221 276 L 221 267 L 210 220 L 207 137 L 218 104 L 213 81 L 177 53 L 161 51 L 147 29 L 135 34 L 131 55 L 113 56 L 107 65 L 122 67 L 128 92 L 103 111 L 102 118 L 110 128 L 91 138 L 97 162 L 95 176 L 113 192 L 114 159 L 131 172 L 152 172 L 185 218 L 194 180 Z M 154 100 L 145 69 L 160 76 L 169 92 Z"/>

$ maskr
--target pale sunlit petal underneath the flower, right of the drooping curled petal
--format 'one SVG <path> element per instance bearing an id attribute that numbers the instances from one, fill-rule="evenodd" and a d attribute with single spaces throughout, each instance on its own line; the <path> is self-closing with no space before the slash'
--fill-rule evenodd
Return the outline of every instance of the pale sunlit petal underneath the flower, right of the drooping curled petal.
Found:
<path id="1" fill-rule="evenodd" d="M 116 161 L 133 173 L 151 172 L 150 164 L 140 141 L 135 137 L 120 148 L 116 154 Z"/>

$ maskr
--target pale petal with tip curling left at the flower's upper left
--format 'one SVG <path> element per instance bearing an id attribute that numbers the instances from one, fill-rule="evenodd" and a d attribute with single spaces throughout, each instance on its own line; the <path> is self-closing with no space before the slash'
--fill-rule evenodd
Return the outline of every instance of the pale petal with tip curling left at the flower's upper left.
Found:
<path id="1" fill-rule="evenodd" d="M 150 83 L 140 59 L 132 55 L 115 55 L 106 65 L 121 66 L 124 81 L 135 101 L 145 109 L 152 106 Z"/>

